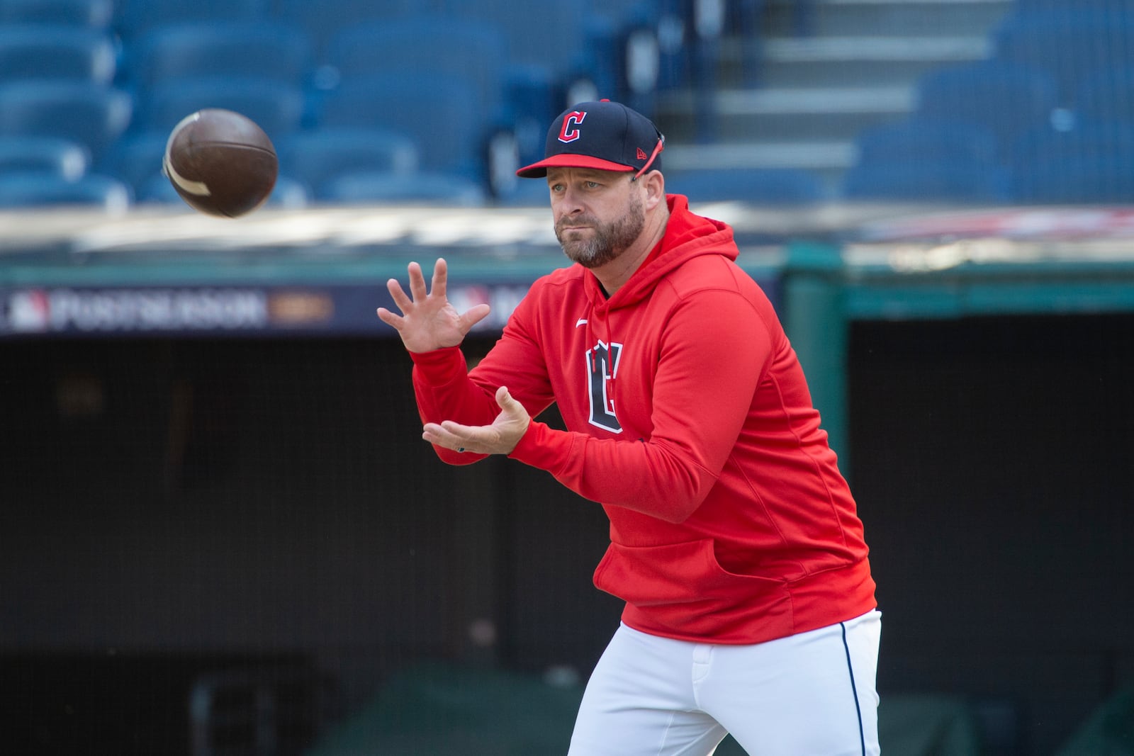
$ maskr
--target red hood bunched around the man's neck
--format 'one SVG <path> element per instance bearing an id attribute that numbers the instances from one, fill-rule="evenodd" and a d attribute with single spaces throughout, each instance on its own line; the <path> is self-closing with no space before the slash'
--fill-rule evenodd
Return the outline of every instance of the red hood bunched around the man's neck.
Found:
<path id="1" fill-rule="evenodd" d="M 736 260 L 739 250 L 733 240 L 731 227 L 691 212 L 685 195 L 666 195 L 666 204 L 669 206 L 669 222 L 661 241 L 612 297 L 607 299 L 598 279 L 587 277 L 587 294 L 596 309 L 617 309 L 637 304 L 649 297 L 668 273 L 694 257 L 720 255 Z"/>

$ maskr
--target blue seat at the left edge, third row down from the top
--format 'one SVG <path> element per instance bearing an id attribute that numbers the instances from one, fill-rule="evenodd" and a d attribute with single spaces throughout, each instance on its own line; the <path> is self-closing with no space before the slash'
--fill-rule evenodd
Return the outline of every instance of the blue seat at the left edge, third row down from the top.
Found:
<path id="1" fill-rule="evenodd" d="M 71 139 L 98 161 L 129 126 L 133 109 L 128 93 L 94 84 L 6 84 L 0 86 L 0 134 Z"/>

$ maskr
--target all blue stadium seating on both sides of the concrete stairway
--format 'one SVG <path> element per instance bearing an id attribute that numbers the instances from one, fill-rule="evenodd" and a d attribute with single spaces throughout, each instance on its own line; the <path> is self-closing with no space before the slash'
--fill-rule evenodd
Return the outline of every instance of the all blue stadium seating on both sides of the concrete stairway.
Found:
<path id="1" fill-rule="evenodd" d="M 759 87 L 764 0 L 726 5 L 744 85 Z M 100 178 L 129 203 L 177 202 L 158 188 L 164 139 L 213 107 L 272 137 L 280 204 L 543 202 L 509 168 L 539 156 L 575 95 L 649 112 L 667 87 L 713 91 L 719 51 L 659 20 L 675 17 L 696 22 L 683 0 L 0 0 L 0 177 L 76 184 L 29 184 L 43 202 L 112 206 L 90 188 Z M 1132 40 L 1126 0 L 1017 0 L 985 60 L 926 71 L 908 117 L 858 134 L 833 196 L 789 169 L 685 170 L 671 188 L 778 204 L 1131 201 Z M 0 204 L 26 205 L 18 194 Z"/>

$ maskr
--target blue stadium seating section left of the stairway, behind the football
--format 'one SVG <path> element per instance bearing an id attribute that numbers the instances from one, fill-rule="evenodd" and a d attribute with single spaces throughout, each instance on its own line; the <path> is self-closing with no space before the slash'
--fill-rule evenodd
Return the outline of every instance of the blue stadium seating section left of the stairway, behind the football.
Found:
<path id="1" fill-rule="evenodd" d="M 177 203 L 164 142 L 204 107 L 272 137 L 280 204 L 522 203 L 527 187 L 492 176 L 542 150 L 572 78 L 620 96 L 617 35 L 635 3 L 586 5 L 0 0 L 0 175 L 9 187 L 36 177 L 0 205 L 108 206 L 91 188 L 102 179 L 130 203 Z M 48 190 L 49 178 L 74 190 Z"/>

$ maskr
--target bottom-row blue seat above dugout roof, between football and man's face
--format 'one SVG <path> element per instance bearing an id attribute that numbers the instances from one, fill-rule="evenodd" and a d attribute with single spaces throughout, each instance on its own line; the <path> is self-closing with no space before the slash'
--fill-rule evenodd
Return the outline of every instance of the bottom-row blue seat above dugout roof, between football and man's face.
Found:
<path id="1" fill-rule="evenodd" d="M 481 186 L 450 173 L 359 172 L 332 179 L 324 187 L 327 202 L 340 204 L 407 204 L 482 206 L 488 196 Z"/>

